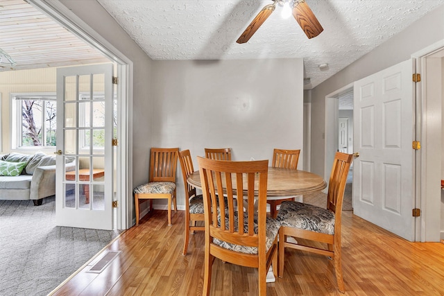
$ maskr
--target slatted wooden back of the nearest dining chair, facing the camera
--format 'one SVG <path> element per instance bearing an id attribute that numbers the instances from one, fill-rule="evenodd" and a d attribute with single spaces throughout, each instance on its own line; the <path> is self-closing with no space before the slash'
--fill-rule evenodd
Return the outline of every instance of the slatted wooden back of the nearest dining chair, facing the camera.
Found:
<path id="1" fill-rule="evenodd" d="M 210 235 L 210 242 L 212 238 L 219 238 L 228 243 L 258 247 L 259 252 L 262 248 L 265 250 L 268 161 L 223 162 L 198 157 L 198 166 L 205 207 L 205 236 Z M 246 209 L 237 207 L 234 202 L 242 195 Z M 259 199 L 257 213 L 255 195 Z M 244 221 L 248 225 L 245 229 Z"/>

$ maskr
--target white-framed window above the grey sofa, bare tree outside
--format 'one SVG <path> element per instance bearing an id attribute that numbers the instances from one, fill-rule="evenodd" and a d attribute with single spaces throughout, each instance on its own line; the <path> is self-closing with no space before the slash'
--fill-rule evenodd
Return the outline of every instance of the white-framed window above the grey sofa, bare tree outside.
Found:
<path id="1" fill-rule="evenodd" d="M 12 95 L 12 148 L 56 146 L 56 94 Z"/>

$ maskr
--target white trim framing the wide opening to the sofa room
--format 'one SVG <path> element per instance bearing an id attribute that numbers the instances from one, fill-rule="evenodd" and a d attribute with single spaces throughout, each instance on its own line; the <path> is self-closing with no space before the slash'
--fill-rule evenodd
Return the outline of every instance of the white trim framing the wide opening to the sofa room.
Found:
<path id="1" fill-rule="evenodd" d="M 117 207 L 117 229 L 128 229 L 134 225 L 133 219 L 133 179 L 131 166 L 132 159 L 132 121 L 130 106 L 133 105 L 133 62 L 105 40 L 99 33 L 83 23 L 73 12 L 67 10 L 59 1 L 28 0 L 35 8 L 51 17 L 61 26 L 83 40 L 83 42 L 98 49 L 111 62 L 117 65 L 117 98 L 115 114 L 117 128 L 114 130 L 117 146 L 115 148 L 116 167 L 115 192 L 113 207 Z"/>

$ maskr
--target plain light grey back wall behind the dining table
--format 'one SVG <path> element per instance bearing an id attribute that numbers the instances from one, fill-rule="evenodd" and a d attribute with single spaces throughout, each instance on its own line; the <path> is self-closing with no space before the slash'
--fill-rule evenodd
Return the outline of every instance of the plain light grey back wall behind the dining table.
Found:
<path id="1" fill-rule="evenodd" d="M 195 170 L 205 147 L 230 147 L 233 160 L 271 160 L 273 148 L 302 149 L 302 59 L 153 65 L 153 146 L 189 149 Z M 180 169 L 177 190 L 182 205 Z"/>

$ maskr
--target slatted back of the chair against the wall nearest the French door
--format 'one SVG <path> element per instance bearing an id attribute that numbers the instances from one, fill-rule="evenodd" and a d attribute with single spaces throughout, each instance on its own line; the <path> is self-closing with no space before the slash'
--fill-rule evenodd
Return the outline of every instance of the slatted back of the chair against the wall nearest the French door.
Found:
<path id="1" fill-rule="evenodd" d="M 176 182 L 179 148 L 151 148 L 150 182 Z"/>

